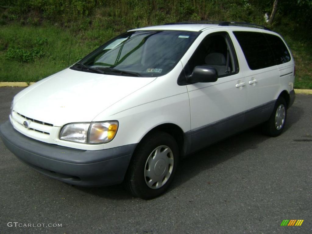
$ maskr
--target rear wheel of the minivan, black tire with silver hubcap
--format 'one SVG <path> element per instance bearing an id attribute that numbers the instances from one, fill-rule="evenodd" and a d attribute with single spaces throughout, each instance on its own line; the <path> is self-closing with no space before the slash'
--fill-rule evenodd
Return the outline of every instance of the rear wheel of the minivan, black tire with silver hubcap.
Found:
<path id="1" fill-rule="evenodd" d="M 286 123 L 287 117 L 287 104 L 284 98 L 279 97 L 274 106 L 272 115 L 268 121 L 262 125 L 263 132 L 272 137 L 279 136 Z"/>

